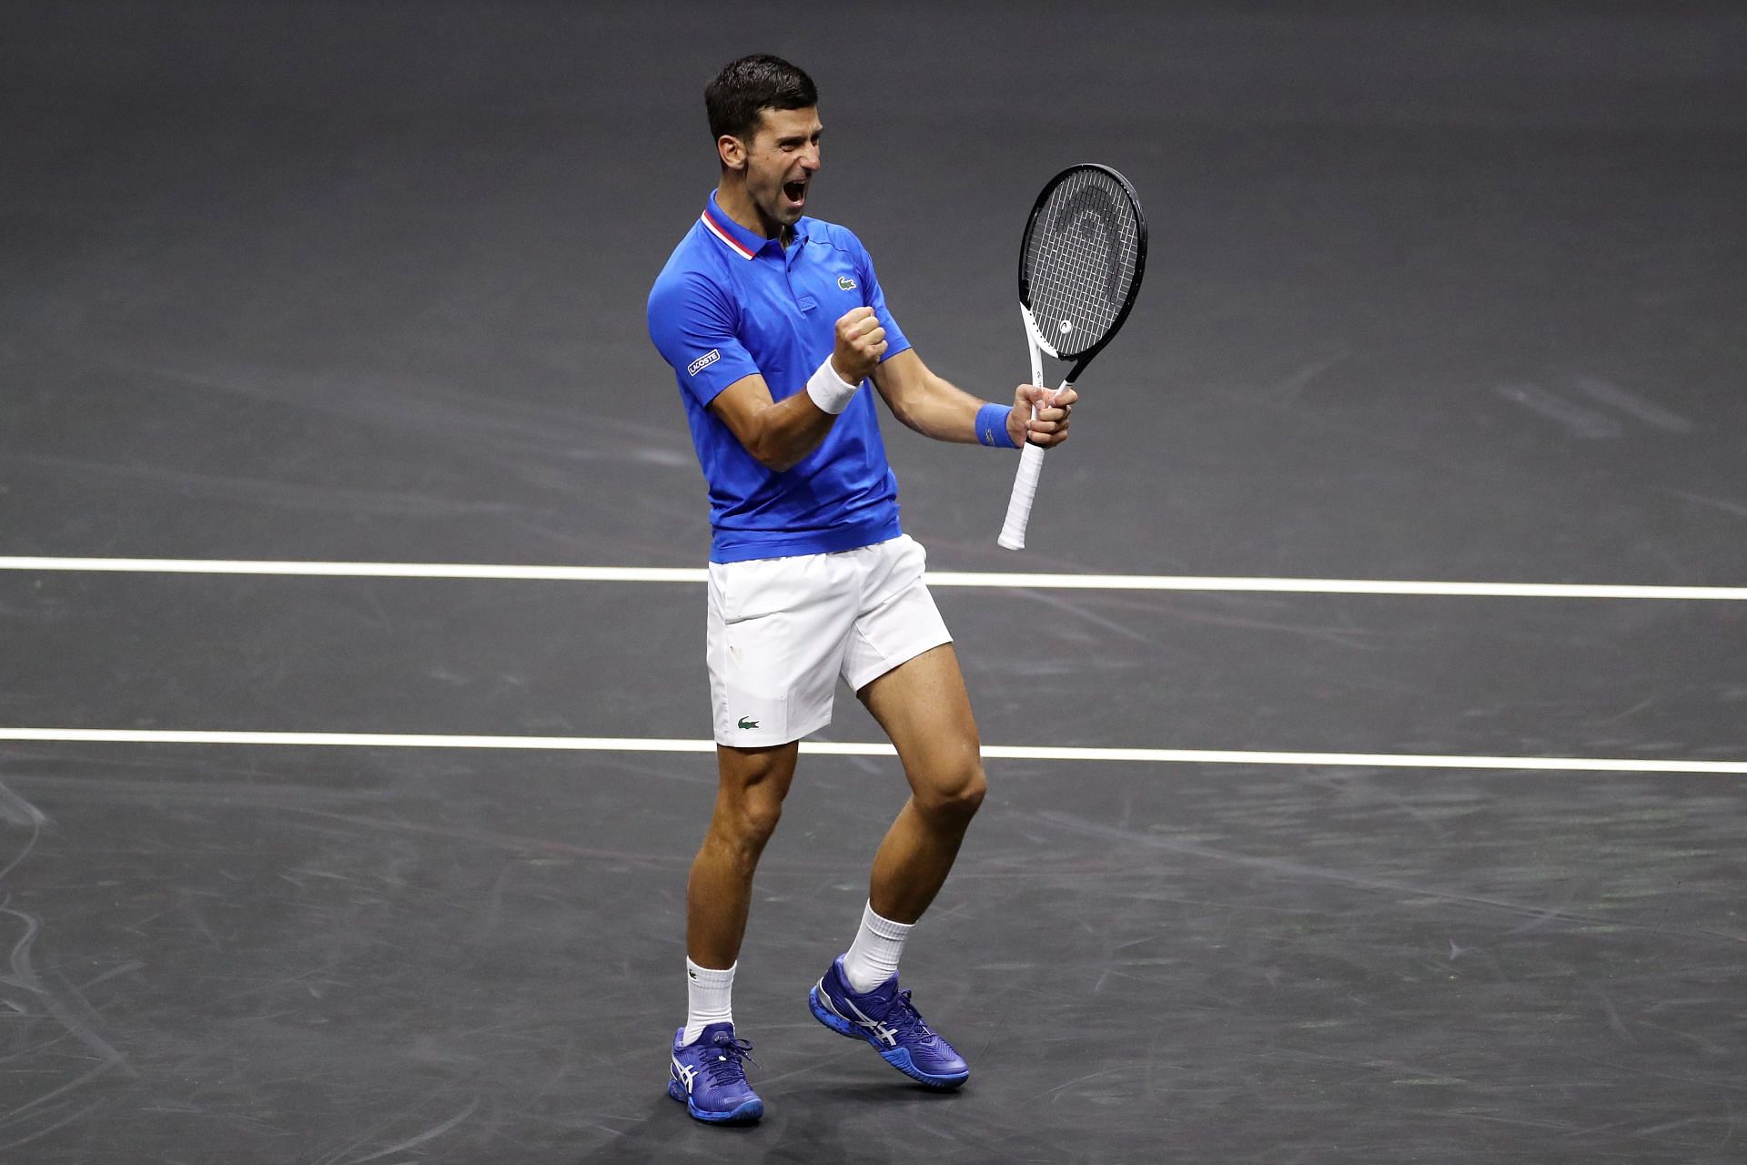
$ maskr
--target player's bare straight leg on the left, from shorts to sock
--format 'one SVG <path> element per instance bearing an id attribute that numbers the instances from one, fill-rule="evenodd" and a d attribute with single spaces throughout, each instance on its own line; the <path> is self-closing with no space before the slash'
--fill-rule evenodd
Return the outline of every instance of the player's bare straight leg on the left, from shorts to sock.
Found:
<path id="1" fill-rule="evenodd" d="M 732 968 L 746 934 L 758 854 L 783 816 L 800 742 L 716 746 L 716 812 L 685 887 L 685 952 L 701 968 Z"/>

